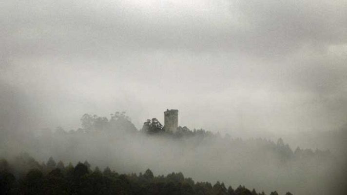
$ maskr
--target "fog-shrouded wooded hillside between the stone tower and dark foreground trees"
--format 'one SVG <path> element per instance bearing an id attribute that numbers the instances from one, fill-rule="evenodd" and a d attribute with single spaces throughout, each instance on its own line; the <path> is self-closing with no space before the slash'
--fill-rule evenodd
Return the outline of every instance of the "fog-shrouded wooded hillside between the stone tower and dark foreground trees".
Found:
<path id="1" fill-rule="evenodd" d="M 137 130 L 129 117 L 119 112 L 110 118 L 85 114 L 77 130 L 43 129 L 1 144 L 0 157 L 6 159 L 22 151 L 39 161 L 53 156 L 76 165 L 80 159 L 88 159 L 95 166 L 111 166 L 123 174 L 148 168 L 158 175 L 182 172 L 194 180 L 242 184 L 267 194 L 274 189 L 279 194 L 341 194 L 346 183 L 344 156 L 328 150 L 293 150 L 282 139 L 244 140 L 187 127 L 166 132 L 155 118 Z M 50 160 L 44 166 L 62 167 L 62 162 Z"/>

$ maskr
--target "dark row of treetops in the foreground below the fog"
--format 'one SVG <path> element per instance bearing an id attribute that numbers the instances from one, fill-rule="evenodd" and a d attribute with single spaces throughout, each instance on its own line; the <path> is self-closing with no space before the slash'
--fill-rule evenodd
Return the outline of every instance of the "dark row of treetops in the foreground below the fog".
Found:
<path id="1" fill-rule="evenodd" d="M 20 167 L 20 168 L 19 168 Z M 22 173 L 25 172 L 25 173 Z M 150 169 L 143 174 L 118 174 L 106 167 L 91 170 L 85 161 L 64 166 L 50 157 L 39 164 L 27 154 L 13 165 L 0 160 L 1 195 L 265 195 L 244 186 L 233 189 L 224 183 L 194 182 L 182 173 L 154 176 Z M 276 191 L 270 195 L 278 195 Z M 291 195 L 287 193 L 286 195 Z"/>

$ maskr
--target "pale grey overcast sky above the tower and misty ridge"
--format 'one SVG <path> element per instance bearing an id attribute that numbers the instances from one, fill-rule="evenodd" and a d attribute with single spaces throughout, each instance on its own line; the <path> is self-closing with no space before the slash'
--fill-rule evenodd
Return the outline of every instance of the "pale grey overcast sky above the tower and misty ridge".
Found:
<path id="1" fill-rule="evenodd" d="M 347 122 L 346 0 L 0 0 L 0 26 L 2 100 L 38 127 L 167 108 L 223 133 Z"/>

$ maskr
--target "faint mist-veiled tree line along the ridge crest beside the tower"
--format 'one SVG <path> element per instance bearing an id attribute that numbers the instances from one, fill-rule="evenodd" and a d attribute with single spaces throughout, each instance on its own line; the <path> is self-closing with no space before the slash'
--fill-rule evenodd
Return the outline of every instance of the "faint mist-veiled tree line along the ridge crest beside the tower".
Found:
<path id="1" fill-rule="evenodd" d="M 106 133 L 109 136 L 123 136 L 125 134 L 145 134 L 149 136 L 160 136 L 166 138 L 198 138 L 198 139 L 218 139 L 219 141 L 226 141 L 230 144 L 237 143 L 249 143 L 252 141 L 257 142 L 258 145 L 264 146 L 265 149 L 271 150 L 271 152 L 280 156 L 282 161 L 287 161 L 294 158 L 306 158 L 312 156 L 330 156 L 330 152 L 321 151 L 316 149 L 312 151 L 311 149 L 300 149 L 299 147 L 293 151 L 288 144 L 285 144 L 284 141 L 279 138 L 277 142 L 272 142 L 266 139 L 251 139 L 251 140 L 242 140 L 239 138 L 232 139 L 228 134 L 225 137 L 222 137 L 219 133 L 213 134 L 210 131 L 205 131 L 203 129 L 193 129 L 190 130 L 188 127 L 179 126 L 175 132 L 165 131 L 163 125 L 159 122 L 157 118 L 147 119 L 140 131 L 135 128 L 135 125 L 131 122 L 130 117 L 126 116 L 125 112 L 116 112 L 111 114 L 110 118 L 99 117 L 97 115 L 84 114 L 81 119 L 81 127 L 77 131 L 70 131 L 69 133 L 64 131 L 61 127 L 58 127 L 55 131 L 57 136 L 68 136 L 68 135 L 84 135 L 88 136 L 92 134 L 93 137 L 96 134 Z M 51 130 L 46 130 L 50 132 Z M 48 136 L 48 137 L 53 137 Z M 47 140 L 48 138 L 45 137 Z"/>

